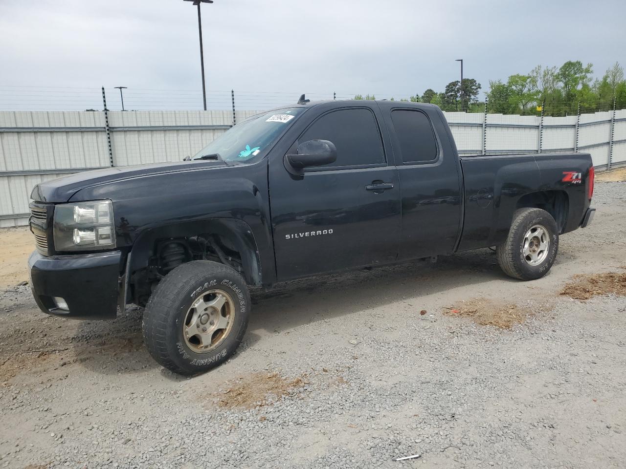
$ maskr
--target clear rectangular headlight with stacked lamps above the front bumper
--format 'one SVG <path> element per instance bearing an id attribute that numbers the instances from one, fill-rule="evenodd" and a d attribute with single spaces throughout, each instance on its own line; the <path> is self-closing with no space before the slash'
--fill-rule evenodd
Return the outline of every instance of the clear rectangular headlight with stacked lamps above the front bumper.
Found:
<path id="1" fill-rule="evenodd" d="M 93 251 L 115 248 L 113 203 L 95 200 L 54 207 L 54 249 Z"/>

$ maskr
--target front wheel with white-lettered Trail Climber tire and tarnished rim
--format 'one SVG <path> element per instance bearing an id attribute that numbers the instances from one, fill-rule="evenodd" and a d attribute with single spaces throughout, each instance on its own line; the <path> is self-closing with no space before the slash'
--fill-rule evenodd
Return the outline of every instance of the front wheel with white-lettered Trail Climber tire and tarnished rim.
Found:
<path id="1" fill-rule="evenodd" d="M 188 262 L 156 286 L 143 313 L 143 341 L 160 365 L 197 375 L 237 350 L 249 314 L 250 293 L 235 270 L 217 262 Z"/>

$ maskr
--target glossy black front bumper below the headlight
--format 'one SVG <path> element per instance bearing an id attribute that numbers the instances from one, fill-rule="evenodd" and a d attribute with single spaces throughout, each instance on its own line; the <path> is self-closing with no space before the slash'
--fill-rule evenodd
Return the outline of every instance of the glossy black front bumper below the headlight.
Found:
<path id="1" fill-rule="evenodd" d="M 115 319 L 120 291 L 120 251 L 28 258 L 31 290 L 44 313 L 74 319 Z M 63 298 L 62 310 L 53 298 Z"/>

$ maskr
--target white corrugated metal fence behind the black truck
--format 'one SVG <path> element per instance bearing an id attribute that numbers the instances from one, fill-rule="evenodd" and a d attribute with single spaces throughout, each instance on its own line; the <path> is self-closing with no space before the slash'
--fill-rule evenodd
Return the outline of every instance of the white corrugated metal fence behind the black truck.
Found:
<path id="1" fill-rule="evenodd" d="M 180 161 L 259 111 L 0 111 L 0 227 L 28 223 L 35 184 L 88 169 Z M 626 164 L 626 109 L 567 117 L 444 113 L 461 154 L 591 153 Z"/>

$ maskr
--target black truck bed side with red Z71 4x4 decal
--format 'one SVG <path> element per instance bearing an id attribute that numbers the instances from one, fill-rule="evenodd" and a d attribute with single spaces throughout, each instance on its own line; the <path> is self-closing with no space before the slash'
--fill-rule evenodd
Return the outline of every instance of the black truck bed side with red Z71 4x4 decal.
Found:
<path id="1" fill-rule="evenodd" d="M 502 243 L 513 213 L 528 199 L 546 208 L 566 207 L 555 213 L 561 233 L 578 228 L 589 206 L 588 153 L 477 154 L 459 159 L 464 198 L 459 251 Z M 530 160 L 535 164 L 528 164 Z M 568 181 L 568 174 L 580 178 Z"/>

